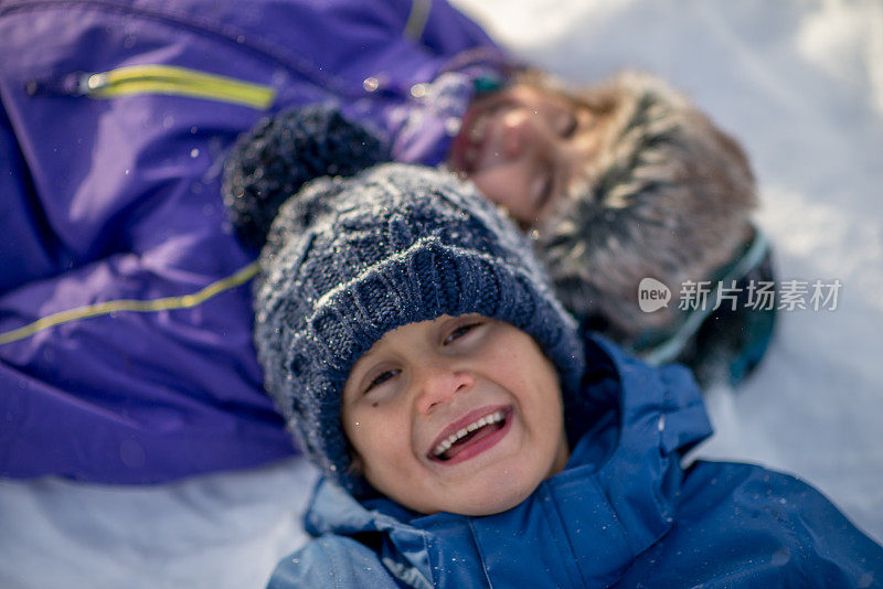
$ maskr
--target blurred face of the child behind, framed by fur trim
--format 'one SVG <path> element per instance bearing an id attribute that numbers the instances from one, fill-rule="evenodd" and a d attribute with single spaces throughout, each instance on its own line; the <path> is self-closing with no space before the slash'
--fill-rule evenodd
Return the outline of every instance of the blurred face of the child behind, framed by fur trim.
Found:
<path id="1" fill-rule="evenodd" d="M 587 180 L 600 122 L 585 106 L 514 85 L 472 104 L 448 162 L 488 200 L 530 226 Z"/>

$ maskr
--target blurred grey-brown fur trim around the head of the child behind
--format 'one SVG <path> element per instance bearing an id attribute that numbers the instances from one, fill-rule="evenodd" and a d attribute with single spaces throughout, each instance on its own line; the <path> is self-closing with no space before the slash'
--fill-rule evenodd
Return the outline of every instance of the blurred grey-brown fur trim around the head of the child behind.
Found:
<path id="1" fill-rule="evenodd" d="M 620 74 L 581 100 L 606 111 L 598 156 L 585 190 L 536 228 L 536 248 L 565 307 L 628 343 L 670 326 L 681 285 L 709 279 L 748 238 L 755 180 L 736 141 L 655 77 Z M 645 277 L 671 289 L 668 308 L 640 310 Z"/>

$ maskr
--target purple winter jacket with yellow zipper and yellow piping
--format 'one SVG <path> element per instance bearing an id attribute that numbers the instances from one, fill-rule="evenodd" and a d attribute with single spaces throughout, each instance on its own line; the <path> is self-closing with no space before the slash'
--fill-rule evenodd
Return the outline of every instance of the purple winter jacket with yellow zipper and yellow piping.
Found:
<path id="1" fill-rule="evenodd" d="M 330 101 L 437 163 L 500 63 L 443 0 L 0 3 L 0 475 L 158 482 L 290 454 L 227 148 Z"/>

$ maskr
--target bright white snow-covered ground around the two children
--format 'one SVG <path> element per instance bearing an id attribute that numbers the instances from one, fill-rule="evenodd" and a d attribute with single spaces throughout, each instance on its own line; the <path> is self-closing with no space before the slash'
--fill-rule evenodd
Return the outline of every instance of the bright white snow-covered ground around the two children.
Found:
<path id="1" fill-rule="evenodd" d="M 576 83 L 671 81 L 752 157 L 780 279 L 834 311 L 780 313 L 759 371 L 709 392 L 702 457 L 798 473 L 883 540 L 883 3 L 455 0 Z M 315 476 L 287 461 L 153 488 L 0 481 L 0 587 L 262 587 L 302 542 Z"/>

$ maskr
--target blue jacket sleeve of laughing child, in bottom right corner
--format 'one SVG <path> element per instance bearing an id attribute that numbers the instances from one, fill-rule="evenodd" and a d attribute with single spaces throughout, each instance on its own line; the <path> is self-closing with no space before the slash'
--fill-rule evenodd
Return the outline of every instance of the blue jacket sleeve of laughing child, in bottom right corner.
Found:
<path id="1" fill-rule="evenodd" d="M 619 580 L 634 587 L 875 587 L 883 547 L 805 482 L 752 464 L 699 460 L 672 529 Z"/>

